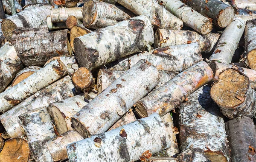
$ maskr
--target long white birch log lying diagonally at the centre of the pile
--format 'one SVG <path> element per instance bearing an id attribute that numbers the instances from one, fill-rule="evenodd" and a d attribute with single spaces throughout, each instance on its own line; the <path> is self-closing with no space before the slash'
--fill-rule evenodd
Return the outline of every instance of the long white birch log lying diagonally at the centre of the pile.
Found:
<path id="1" fill-rule="evenodd" d="M 140 60 L 71 118 L 82 137 L 107 131 L 159 82 L 157 68 Z"/>

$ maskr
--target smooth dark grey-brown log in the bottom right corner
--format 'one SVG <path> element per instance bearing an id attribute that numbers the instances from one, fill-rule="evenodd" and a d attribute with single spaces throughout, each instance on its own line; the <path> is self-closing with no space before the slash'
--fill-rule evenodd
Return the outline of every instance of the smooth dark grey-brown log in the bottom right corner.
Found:
<path id="1" fill-rule="evenodd" d="M 232 162 L 256 161 L 256 130 L 249 117 L 238 117 L 226 122 Z"/>

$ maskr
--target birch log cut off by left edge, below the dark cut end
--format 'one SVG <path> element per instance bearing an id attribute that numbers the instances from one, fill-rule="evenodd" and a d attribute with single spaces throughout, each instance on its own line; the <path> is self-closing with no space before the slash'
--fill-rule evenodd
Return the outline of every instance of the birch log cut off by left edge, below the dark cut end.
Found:
<path id="1" fill-rule="evenodd" d="M 11 43 L 0 48 L 0 92 L 8 86 L 15 75 L 23 68 L 20 58 Z"/>

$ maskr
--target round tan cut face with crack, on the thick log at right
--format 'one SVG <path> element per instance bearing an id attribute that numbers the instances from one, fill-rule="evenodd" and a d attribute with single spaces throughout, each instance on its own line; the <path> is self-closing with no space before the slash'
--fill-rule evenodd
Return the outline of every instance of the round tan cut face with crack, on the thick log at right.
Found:
<path id="1" fill-rule="evenodd" d="M 219 75 L 210 94 L 218 105 L 233 108 L 244 102 L 249 85 L 247 76 L 237 70 L 227 69 Z"/>

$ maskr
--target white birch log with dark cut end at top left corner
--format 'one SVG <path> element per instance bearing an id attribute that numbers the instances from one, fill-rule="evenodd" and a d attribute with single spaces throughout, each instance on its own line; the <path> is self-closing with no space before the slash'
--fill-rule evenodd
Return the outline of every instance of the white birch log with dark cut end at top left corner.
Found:
<path id="1" fill-rule="evenodd" d="M 26 7 L 20 13 L 7 17 L 2 22 L 3 34 L 7 40 L 11 40 L 12 31 L 16 28 L 40 28 L 47 25 L 47 16 L 50 14 L 52 6 L 37 4 Z M 31 15 L 33 17 L 31 18 Z"/>

